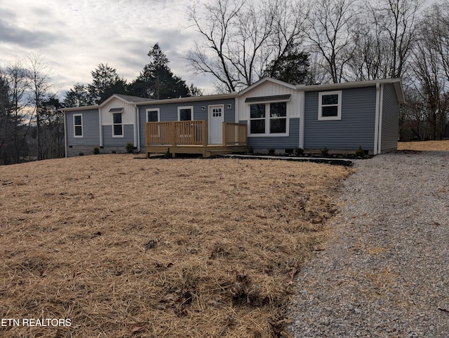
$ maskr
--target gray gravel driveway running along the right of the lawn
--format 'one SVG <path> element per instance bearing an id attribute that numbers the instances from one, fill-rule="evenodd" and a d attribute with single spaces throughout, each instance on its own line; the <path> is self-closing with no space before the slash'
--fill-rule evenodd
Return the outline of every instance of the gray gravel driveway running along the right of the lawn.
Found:
<path id="1" fill-rule="evenodd" d="M 298 275 L 293 337 L 449 337 L 449 152 L 354 168 L 326 250 Z"/>

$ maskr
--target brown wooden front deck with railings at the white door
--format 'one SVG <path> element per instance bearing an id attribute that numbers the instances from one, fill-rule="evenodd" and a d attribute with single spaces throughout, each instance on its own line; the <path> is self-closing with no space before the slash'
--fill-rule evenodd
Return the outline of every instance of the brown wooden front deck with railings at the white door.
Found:
<path id="1" fill-rule="evenodd" d="M 222 144 L 208 144 L 207 121 L 148 122 L 145 153 L 201 154 L 203 157 L 242 153 L 247 150 L 247 126 L 223 122 Z"/>

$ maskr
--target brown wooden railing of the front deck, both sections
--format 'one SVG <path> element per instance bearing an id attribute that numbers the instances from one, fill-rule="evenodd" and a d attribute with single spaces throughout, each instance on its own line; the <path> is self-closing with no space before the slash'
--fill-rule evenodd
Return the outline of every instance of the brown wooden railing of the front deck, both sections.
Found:
<path id="1" fill-rule="evenodd" d="M 246 124 L 223 122 L 222 145 L 246 145 Z M 147 122 L 145 144 L 151 145 L 208 145 L 207 121 Z"/>

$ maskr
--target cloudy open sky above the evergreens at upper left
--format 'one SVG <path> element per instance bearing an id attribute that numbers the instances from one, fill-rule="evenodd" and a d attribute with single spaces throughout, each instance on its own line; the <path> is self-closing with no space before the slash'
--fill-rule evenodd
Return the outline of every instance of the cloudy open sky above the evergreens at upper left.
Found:
<path id="1" fill-rule="evenodd" d="M 197 39 L 186 28 L 182 0 L 0 0 L 0 65 L 29 53 L 48 62 L 60 97 L 76 83 L 90 83 L 98 64 L 132 81 L 159 42 L 174 74 L 213 90 L 212 80 L 192 76 L 182 53 Z"/>

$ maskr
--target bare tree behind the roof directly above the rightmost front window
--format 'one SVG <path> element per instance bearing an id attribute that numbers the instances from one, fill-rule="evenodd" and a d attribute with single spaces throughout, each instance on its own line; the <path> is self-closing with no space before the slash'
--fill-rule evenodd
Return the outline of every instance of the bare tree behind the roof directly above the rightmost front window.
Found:
<path id="1" fill-rule="evenodd" d="M 307 36 L 312 48 L 324 60 L 333 83 L 344 79 L 344 68 L 355 46 L 351 43 L 351 25 L 356 18 L 355 0 L 319 0 L 308 18 Z"/>

